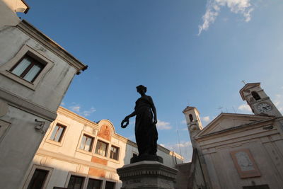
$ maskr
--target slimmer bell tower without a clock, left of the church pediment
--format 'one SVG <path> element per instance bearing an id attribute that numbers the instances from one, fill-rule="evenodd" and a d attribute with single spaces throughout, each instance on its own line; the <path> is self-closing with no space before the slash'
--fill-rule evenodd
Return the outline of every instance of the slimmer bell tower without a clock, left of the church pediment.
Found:
<path id="1" fill-rule="evenodd" d="M 187 121 L 187 129 L 189 130 L 190 140 L 192 142 L 192 147 L 195 147 L 195 136 L 202 130 L 202 122 L 200 121 L 200 113 L 197 108 L 192 106 L 187 106 L 183 110 L 185 114 L 185 119 Z"/>

